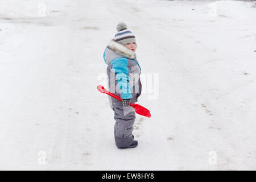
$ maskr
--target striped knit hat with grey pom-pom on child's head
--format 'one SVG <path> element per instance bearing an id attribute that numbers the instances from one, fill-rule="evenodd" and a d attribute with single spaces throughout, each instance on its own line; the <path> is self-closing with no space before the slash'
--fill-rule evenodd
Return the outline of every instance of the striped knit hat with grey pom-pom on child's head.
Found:
<path id="1" fill-rule="evenodd" d="M 118 23 L 117 34 L 115 34 L 114 41 L 120 44 L 136 43 L 135 35 L 130 30 L 127 30 L 125 23 Z"/>

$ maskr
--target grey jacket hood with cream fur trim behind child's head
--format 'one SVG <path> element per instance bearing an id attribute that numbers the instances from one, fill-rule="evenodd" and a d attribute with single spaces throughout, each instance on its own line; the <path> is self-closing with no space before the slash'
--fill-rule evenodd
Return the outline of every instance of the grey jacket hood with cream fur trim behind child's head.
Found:
<path id="1" fill-rule="evenodd" d="M 110 62 L 117 57 L 136 59 L 136 53 L 123 46 L 122 44 L 119 44 L 114 40 L 110 40 L 109 46 L 105 49 L 103 57 L 106 64 L 110 64 Z"/>

